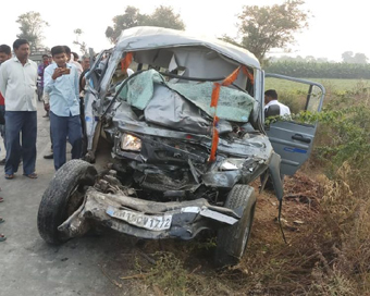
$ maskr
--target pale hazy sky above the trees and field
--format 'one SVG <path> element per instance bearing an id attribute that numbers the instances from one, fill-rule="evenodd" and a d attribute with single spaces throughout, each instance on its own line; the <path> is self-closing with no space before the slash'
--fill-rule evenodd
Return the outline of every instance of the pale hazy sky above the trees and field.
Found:
<path id="1" fill-rule="evenodd" d="M 50 0 L 8 1 L 2 5 L 0 17 L 0 44 L 12 46 L 20 33 L 17 17 L 34 11 L 49 23 L 44 29 L 42 44 L 49 48 L 57 45 L 67 45 L 78 52 L 73 45 L 76 39 L 74 29 L 81 28 L 79 40 L 85 41 L 96 52 L 111 48 L 104 32 L 112 26 L 112 18 L 123 14 L 127 5 L 136 7 L 140 13 L 151 14 L 159 5 L 172 7 L 185 23 L 186 30 L 195 34 L 221 37 L 237 35 L 237 14 L 244 5 L 281 4 L 283 0 L 135 0 L 126 1 L 66 1 L 69 7 L 62 12 L 62 2 Z M 269 54 L 279 57 L 313 55 L 341 62 L 342 53 L 353 51 L 365 53 L 370 59 L 370 38 L 366 33 L 369 7 L 367 1 L 306 0 L 303 9 L 312 15 L 309 27 L 295 34 L 296 44 L 289 46 L 291 53 L 282 49 L 273 49 Z M 70 4 L 71 3 L 71 4 Z M 98 4 L 96 4 L 98 3 Z M 365 26 L 365 28 L 363 28 Z M 79 52 L 78 52 L 79 53 Z"/>

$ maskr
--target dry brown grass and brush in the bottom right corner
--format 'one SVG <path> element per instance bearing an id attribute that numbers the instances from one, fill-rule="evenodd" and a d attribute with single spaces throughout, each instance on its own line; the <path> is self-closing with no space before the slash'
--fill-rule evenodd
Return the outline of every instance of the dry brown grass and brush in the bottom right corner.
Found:
<path id="1" fill-rule="evenodd" d="M 321 176 L 322 197 L 313 209 L 295 212 L 307 219 L 286 233 L 287 245 L 278 229 L 259 221 L 243 262 L 223 273 L 230 287 L 244 288 L 245 295 L 370 295 L 370 199 L 355 194 L 351 172 L 345 163 L 335 181 Z M 285 219 L 296 215 L 285 213 Z"/>

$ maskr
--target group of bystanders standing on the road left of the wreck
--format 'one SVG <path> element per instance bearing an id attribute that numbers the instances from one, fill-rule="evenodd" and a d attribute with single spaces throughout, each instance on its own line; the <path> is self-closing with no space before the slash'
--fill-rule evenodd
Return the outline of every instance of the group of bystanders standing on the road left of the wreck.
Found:
<path id="1" fill-rule="evenodd" d="M 5 148 L 5 180 L 13 180 L 23 166 L 25 177 L 36 180 L 37 100 L 44 100 L 50 118 L 50 139 L 55 171 L 66 161 L 66 140 L 72 159 L 83 153 L 83 98 L 79 77 L 89 67 L 89 58 L 78 62 L 78 54 L 67 46 L 54 46 L 37 65 L 29 60 L 29 42 L 16 39 L 11 48 L 0 46 L 0 133 Z M 0 197 L 0 202 L 3 198 Z M 0 223 L 4 219 L 0 217 Z M 7 237 L 0 234 L 0 242 Z"/>

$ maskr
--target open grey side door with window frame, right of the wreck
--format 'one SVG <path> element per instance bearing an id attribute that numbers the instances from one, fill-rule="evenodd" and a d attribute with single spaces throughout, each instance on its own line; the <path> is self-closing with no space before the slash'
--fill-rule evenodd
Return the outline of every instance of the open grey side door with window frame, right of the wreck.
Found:
<path id="1" fill-rule="evenodd" d="M 264 90 L 275 89 L 279 101 L 288 106 L 292 114 L 300 111 L 320 112 L 325 88 L 314 82 L 279 74 L 264 74 Z M 309 158 L 317 123 L 300 123 L 293 120 L 278 120 L 266 125 L 275 152 L 282 158 L 281 174 L 293 175 Z"/>

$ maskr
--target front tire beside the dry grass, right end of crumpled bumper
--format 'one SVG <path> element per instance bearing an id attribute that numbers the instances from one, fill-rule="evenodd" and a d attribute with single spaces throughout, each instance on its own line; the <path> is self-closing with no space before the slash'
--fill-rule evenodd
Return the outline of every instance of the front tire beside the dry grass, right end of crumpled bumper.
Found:
<path id="1" fill-rule="evenodd" d="M 219 267 L 235 266 L 243 257 L 251 230 L 256 208 L 255 189 L 248 185 L 235 185 L 229 193 L 225 208 L 243 207 L 238 222 L 218 231 L 214 261 Z"/>

